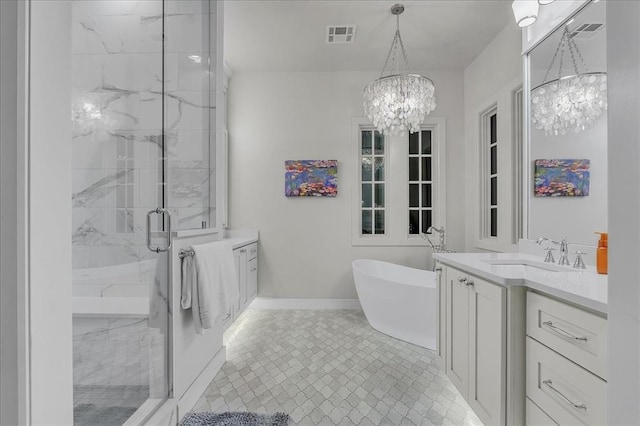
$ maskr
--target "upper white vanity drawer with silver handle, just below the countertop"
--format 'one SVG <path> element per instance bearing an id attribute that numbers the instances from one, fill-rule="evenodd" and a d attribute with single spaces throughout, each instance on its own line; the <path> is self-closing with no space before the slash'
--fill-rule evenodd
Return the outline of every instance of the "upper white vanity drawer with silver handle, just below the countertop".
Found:
<path id="1" fill-rule="evenodd" d="M 607 320 L 537 293 L 527 293 L 527 335 L 607 378 Z"/>

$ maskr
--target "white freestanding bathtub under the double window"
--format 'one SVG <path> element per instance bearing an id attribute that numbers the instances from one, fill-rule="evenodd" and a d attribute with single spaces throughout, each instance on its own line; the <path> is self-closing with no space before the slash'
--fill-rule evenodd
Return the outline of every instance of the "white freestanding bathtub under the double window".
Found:
<path id="1" fill-rule="evenodd" d="M 352 262 L 356 291 L 367 321 L 381 333 L 436 347 L 436 273 L 379 260 Z"/>

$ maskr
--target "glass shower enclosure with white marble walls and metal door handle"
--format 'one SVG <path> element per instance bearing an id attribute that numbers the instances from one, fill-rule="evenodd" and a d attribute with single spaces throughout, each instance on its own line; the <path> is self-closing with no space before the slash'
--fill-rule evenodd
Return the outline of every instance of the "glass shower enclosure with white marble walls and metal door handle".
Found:
<path id="1" fill-rule="evenodd" d="M 171 396 L 168 231 L 215 226 L 215 13 L 72 1 L 77 425 L 142 421 Z"/>

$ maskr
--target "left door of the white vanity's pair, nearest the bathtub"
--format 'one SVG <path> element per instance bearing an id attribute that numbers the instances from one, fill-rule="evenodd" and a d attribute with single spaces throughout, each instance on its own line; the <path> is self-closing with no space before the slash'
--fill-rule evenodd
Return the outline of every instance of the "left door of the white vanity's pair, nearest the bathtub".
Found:
<path id="1" fill-rule="evenodd" d="M 446 372 L 465 398 L 469 372 L 469 290 L 466 281 L 465 273 L 447 268 Z"/>

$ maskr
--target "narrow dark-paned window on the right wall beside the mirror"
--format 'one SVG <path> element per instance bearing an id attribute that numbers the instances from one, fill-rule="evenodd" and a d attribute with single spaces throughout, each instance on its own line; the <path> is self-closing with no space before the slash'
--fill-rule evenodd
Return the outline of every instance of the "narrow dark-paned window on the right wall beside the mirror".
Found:
<path id="1" fill-rule="evenodd" d="M 496 238 L 498 237 L 498 109 L 495 106 L 482 115 L 480 159 L 482 236 Z"/>

